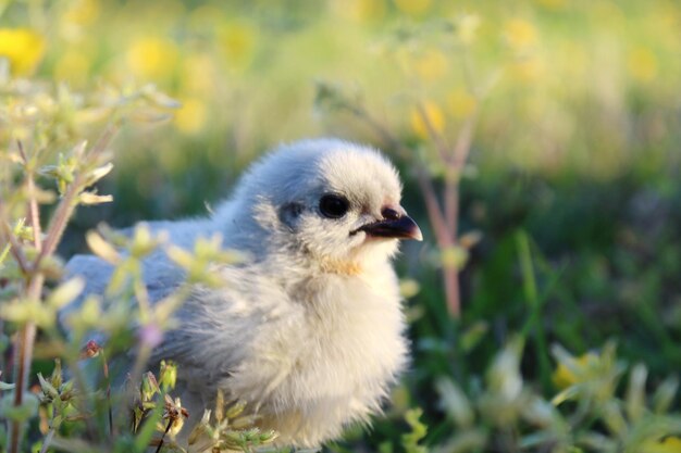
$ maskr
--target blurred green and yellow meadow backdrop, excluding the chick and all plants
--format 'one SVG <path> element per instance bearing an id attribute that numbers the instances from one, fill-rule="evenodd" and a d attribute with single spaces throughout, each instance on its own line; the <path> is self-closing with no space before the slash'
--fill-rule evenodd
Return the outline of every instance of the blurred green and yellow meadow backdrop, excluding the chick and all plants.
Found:
<path id="1" fill-rule="evenodd" d="M 396 438 L 405 427 L 394 419 L 417 405 L 430 440 L 445 437 L 453 428 L 433 382 L 453 376 L 474 386 L 512 332 L 528 339 L 521 368 L 537 388 L 555 385 L 553 342 L 582 354 L 614 339 L 620 355 L 647 364 L 653 381 L 679 369 L 677 1 L 25 0 L 0 8 L 0 55 L 16 75 L 76 91 L 152 83 L 182 103 L 171 121 L 128 127 L 116 139 L 115 171 L 100 188 L 115 202 L 79 211 L 64 254 L 83 250 L 82 232 L 101 221 L 205 213 L 277 143 L 331 135 L 386 144 L 354 115 L 317 103 L 320 83 L 364 105 L 413 150 L 395 156 L 406 206 L 426 232 L 398 264 L 416 292 L 408 301 L 413 365 L 396 390 L 393 421 L 379 421 L 362 442 Z M 433 148 L 419 102 L 450 142 L 480 109 L 460 229 L 482 240 L 461 274 L 460 322 L 446 314 L 411 172 Z M 430 169 L 441 184 L 442 171 Z M 531 274 L 521 266 L 528 257 Z"/>

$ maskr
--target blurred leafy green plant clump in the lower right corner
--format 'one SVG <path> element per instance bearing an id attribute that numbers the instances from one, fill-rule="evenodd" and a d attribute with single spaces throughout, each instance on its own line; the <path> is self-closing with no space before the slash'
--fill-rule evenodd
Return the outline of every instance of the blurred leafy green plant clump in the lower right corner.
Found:
<path id="1" fill-rule="evenodd" d="M 433 452 L 653 453 L 681 445 L 681 415 L 670 412 L 676 377 L 651 392 L 646 367 L 619 360 L 612 342 L 582 356 L 555 345 L 556 393 L 547 399 L 523 379 L 522 351 L 520 337 L 511 340 L 484 376 L 462 382 L 468 391 L 437 380 L 451 435 Z"/>

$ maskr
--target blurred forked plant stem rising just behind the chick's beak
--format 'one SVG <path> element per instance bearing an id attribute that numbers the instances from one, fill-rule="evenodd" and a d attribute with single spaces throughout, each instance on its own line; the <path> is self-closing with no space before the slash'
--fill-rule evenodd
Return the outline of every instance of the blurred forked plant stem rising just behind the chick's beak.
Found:
<path id="1" fill-rule="evenodd" d="M 400 27 L 385 46 L 396 63 L 408 88 L 404 95 L 412 133 L 404 137 L 386 125 L 361 96 L 352 96 L 339 86 L 321 81 L 317 85 L 315 103 L 330 111 L 346 112 L 364 124 L 412 169 L 430 221 L 435 241 L 439 248 L 438 265 L 442 269 L 445 302 L 449 314 L 460 317 L 461 294 L 459 273 L 465 267 L 470 249 L 481 238 L 479 231 L 461 234 L 460 185 L 472 168 L 469 164 L 473 133 L 480 117 L 480 105 L 488 96 L 496 78 L 484 84 L 473 74 L 471 47 L 479 18 L 462 14 L 454 21 L 433 21 L 419 27 Z M 420 74 L 420 61 L 426 55 L 445 54 L 459 58 L 463 72 L 463 96 L 467 104 L 459 122 L 446 122 L 437 103 L 429 96 L 436 96 Z M 455 77 L 447 77 L 451 83 Z M 459 127 L 453 139 L 447 127 Z"/>

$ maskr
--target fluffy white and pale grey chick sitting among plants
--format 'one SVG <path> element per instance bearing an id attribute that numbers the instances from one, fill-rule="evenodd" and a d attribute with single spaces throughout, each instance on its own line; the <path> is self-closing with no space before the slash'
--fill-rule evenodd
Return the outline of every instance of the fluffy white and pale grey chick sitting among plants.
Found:
<path id="1" fill-rule="evenodd" d="M 220 232 L 250 256 L 216 267 L 224 288 L 196 288 L 154 352 L 178 364 L 190 420 L 221 389 L 277 430 L 280 444 L 318 446 L 380 411 L 408 353 L 391 259 L 399 239 L 421 240 L 400 191 L 377 151 L 307 140 L 253 164 L 210 218 L 150 224 L 187 248 Z M 103 290 L 107 266 L 94 256 L 69 263 L 90 292 Z M 154 299 L 182 277 L 160 254 L 145 262 Z"/>

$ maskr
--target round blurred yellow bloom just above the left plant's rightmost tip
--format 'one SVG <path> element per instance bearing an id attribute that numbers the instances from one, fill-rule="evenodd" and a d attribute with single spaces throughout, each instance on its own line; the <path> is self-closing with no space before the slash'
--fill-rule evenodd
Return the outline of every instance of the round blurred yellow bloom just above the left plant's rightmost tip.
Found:
<path id="1" fill-rule="evenodd" d="M 168 39 L 140 38 L 127 50 L 127 64 L 133 74 L 145 79 L 166 77 L 177 61 L 177 48 Z"/>

